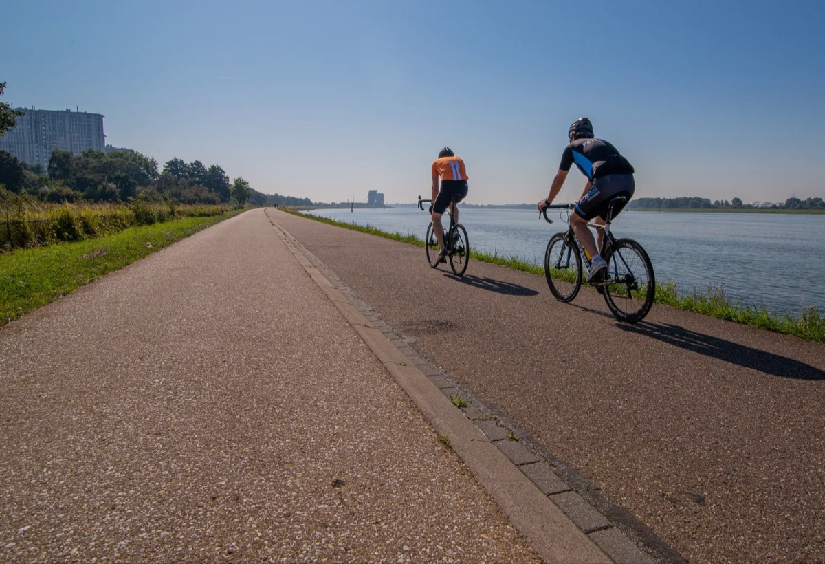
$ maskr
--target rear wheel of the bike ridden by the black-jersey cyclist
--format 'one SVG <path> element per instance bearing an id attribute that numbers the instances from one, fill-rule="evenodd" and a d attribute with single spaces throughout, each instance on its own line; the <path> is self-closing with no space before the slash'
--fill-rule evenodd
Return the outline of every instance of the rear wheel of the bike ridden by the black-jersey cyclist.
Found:
<path id="1" fill-rule="evenodd" d="M 618 239 L 607 250 L 604 288 L 607 307 L 617 320 L 636 323 L 648 315 L 656 297 L 653 264 L 642 245 Z"/>

